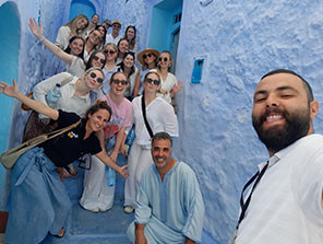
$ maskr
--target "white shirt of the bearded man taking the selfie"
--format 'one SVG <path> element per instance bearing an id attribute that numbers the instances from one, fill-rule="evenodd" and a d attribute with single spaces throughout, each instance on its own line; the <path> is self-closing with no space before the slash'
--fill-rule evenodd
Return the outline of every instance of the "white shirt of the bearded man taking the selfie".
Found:
<path id="1" fill-rule="evenodd" d="M 323 243 L 322 186 L 323 136 L 280 150 L 252 194 L 235 244 Z"/>

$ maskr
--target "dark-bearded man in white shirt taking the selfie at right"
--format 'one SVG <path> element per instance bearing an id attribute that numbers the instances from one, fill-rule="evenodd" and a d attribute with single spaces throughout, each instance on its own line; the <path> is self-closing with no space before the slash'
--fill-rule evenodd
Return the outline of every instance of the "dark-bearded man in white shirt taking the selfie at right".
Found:
<path id="1" fill-rule="evenodd" d="M 265 74 L 254 92 L 252 124 L 270 160 L 243 187 L 235 244 L 323 243 L 323 137 L 309 83 L 290 70 Z"/>

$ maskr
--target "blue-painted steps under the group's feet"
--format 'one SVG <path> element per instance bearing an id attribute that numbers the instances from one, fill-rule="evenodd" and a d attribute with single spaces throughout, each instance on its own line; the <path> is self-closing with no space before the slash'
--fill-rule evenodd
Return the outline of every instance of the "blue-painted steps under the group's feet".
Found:
<path id="1" fill-rule="evenodd" d="M 133 214 L 123 212 L 123 181 L 117 177 L 117 195 L 112 209 L 107 212 L 93 213 L 79 205 L 82 195 L 84 171 L 67 178 L 64 184 L 73 202 L 72 214 L 61 239 L 48 235 L 41 244 L 128 244 L 125 231 Z"/>

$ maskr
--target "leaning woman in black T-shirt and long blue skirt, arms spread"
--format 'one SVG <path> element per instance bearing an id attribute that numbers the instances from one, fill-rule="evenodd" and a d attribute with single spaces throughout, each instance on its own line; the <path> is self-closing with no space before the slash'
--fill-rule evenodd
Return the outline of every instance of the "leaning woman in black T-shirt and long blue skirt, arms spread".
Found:
<path id="1" fill-rule="evenodd" d="M 100 73 L 98 77 L 104 78 Z M 99 140 L 104 126 L 110 119 L 111 108 L 105 102 L 99 102 L 81 119 L 74 113 L 52 109 L 24 96 L 17 90 L 15 80 L 13 85 L 0 82 L 0 93 L 48 116 L 51 123 L 58 124 L 59 129 L 74 125 L 61 136 L 26 151 L 12 170 L 5 242 L 41 243 L 48 233 L 61 237 L 71 214 L 72 202 L 56 173 L 57 166 L 64 166 L 89 153 L 123 177 L 128 176 L 127 165 L 120 167 L 113 163 Z M 76 121 L 80 123 L 75 124 Z"/>

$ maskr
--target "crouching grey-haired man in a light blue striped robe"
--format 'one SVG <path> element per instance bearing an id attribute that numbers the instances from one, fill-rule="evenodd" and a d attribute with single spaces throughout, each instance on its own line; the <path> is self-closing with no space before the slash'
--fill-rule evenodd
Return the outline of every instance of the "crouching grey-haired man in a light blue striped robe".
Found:
<path id="1" fill-rule="evenodd" d="M 154 163 L 142 175 L 135 220 L 128 237 L 135 244 L 200 243 L 204 205 L 194 172 L 171 159 L 171 137 L 152 140 Z"/>

